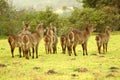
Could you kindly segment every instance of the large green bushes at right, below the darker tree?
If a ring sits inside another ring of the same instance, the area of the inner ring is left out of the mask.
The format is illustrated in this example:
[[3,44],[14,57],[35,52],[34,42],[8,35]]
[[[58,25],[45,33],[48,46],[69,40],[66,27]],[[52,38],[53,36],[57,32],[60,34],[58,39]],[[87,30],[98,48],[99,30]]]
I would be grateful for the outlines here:
[[88,21],[91,21],[96,27],[96,31],[104,31],[105,26],[118,30],[120,15],[112,14],[113,12],[110,7],[104,7],[102,10],[96,10],[95,8],[76,9],[70,16],[69,21],[76,28],[84,28]]

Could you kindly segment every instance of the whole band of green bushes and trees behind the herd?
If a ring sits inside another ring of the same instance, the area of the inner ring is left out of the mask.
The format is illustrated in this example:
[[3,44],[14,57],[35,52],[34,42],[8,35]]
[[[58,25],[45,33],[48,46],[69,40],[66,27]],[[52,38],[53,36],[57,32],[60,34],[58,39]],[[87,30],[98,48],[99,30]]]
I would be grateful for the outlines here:
[[60,17],[53,12],[51,7],[46,7],[44,11],[17,11],[6,0],[0,0],[0,35],[17,33],[23,28],[22,21],[31,22],[31,30],[34,30],[40,22],[47,27],[53,23],[57,26],[59,35],[65,33],[70,26],[84,28],[89,20],[94,24],[97,32],[103,31],[106,25],[111,26],[115,31],[120,30],[119,0],[77,1],[83,3],[83,8],[74,8],[70,16]]

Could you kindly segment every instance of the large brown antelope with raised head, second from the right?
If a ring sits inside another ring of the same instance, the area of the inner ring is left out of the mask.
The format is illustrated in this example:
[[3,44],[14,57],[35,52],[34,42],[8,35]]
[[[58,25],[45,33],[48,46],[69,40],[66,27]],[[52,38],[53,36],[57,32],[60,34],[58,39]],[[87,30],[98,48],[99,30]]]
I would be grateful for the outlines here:
[[93,26],[92,26],[91,23],[89,23],[87,25],[87,27],[85,28],[85,30],[83,30],[83,31],[71,30],[68,33],[67,48],[68,48],[69,56],[71,56],[72,49],[74,51],[74,55],[77,56],[76,46],[78,44],[82,45],[83,55],[85,55],[85,53],[86,53],[86,55],[88,55],[88,53],[87,53],[87,41],[88,41],[88,38],[90,37],[90,34],[91,34],[92,30],[93,30]]

